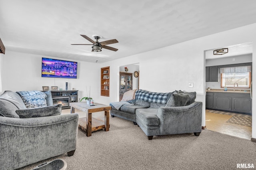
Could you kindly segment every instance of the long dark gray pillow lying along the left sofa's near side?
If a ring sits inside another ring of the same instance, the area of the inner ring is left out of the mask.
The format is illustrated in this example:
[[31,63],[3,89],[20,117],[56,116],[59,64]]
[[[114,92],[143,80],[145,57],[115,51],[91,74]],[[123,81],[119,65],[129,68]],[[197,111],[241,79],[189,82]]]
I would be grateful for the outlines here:
[[16,110],[16,113],[20,118],[31,118],[31,117],[45,117],[45,116],[55,116],[61,115],[62,105],[53,105],[47,107],[40,107],[34,109],[22,109]]

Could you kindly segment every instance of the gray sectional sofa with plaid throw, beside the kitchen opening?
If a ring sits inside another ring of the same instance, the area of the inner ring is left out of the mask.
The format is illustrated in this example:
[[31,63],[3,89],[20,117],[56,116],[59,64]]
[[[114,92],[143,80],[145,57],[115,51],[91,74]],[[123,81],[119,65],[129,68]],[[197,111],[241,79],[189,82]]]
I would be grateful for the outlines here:
[[[196,102],[196,92],[151,93],[138,90],[131,104],[116,108],[110,103],[111,117],[120,117],[138,125],[151,140],[165,134],[194,133],[202,129],[202,102]],[[121,101],[122,102],[122,101]]]

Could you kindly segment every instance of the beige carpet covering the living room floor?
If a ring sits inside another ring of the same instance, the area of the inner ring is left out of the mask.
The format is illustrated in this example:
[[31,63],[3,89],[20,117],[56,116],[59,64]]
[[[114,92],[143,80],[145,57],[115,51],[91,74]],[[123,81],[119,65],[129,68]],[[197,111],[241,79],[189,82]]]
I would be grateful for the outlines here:
[[[81,115],[82,116],[82,115]],[[78,130],[74,156],[62,154],[20,170],[62,158],[68,170],[236,170],[236,164],[256,166],[256,143],[210,130],[200,136],[175,134],[148,140],[132,122],[110,117],[110,131],[87,137]]]

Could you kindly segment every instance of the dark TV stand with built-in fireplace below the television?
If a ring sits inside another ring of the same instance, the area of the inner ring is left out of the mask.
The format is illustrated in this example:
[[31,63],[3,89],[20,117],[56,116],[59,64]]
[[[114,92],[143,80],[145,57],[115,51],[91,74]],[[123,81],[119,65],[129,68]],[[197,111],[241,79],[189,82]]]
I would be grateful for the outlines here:
[[53,104],[62,104],[62,109],[70,109],[69,103],[78,102],[78,90],[51,91]]

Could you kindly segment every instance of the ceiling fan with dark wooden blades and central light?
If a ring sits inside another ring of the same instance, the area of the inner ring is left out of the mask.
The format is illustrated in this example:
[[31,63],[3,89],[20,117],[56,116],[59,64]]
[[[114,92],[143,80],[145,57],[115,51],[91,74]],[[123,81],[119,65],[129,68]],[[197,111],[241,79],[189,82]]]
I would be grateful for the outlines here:
[[86,40],[88,40],[89,42],[91,42],[93,44],[71,44],[71,45],[93,45],[92,46],[92,52],[93,51],[99,52],[99,51],[101,51],[102,48],[109,49],[109,50],[112,50],[112,51],[117,51],[118,50],[116,48],[107,46],[108,44],[118,43],[118,41],[116,39],[107,40],[107,41],[104,41],[104,42],[98,42],[98,40],[100,38],[102,38],[102,36],[93,35],[93,37],[96,39],[96,42],[94,42],[92,39],[90,39],[89,37],[87,37],[85,35],[80,35],[80,36],[82,36],[83,38],[85,38]]

